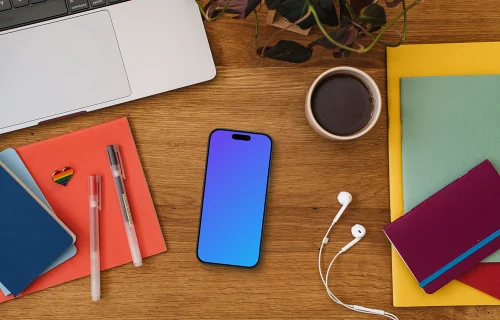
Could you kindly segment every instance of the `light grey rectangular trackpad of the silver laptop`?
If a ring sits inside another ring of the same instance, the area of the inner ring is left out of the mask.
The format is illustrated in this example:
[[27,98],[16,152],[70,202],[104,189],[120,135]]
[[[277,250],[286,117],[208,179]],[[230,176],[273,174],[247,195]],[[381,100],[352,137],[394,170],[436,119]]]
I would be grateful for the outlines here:
[[127,97],[108,11],[0,35],[0,128]]

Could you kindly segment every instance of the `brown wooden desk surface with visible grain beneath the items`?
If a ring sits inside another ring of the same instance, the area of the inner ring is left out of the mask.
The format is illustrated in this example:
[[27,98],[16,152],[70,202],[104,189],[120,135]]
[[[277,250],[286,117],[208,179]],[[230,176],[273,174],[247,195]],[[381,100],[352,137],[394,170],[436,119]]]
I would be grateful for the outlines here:
[[[426,1],[409,14],[407,43],[498,41],[495,5]],[[264,26],[264,13],[259,20],[262,42],[274,29]],[[351,240],[355,223],[368,233],[335,265],[332,290],[340,299],[400,319],[500,317],[495,307],[392,307],[390,246],[381,231],[389,223],[385,103],[375,128],[354,142],[325,140],[306,122],[306,92],[334,66],[366,71],[386,101],[383,48],[344,60],[315,50],[308,63],[292,65],[253,54],[252,19],[225,19],[208,24],[207,31],[215,80],[0,137],[0,149],[18,147],[127,116],[169,250],[140,269],[129,264],[103,272],[99,303],[91,302],[87,277],[2,303],[2,319],[375,318],[334,304],[319,279],[318,247],[342,190],[354,201],[334,229],[325,260]],[[471,59],[480,57],[478,52]],[[217,127],[266,132],[275,142],[262,260],[253,270],[202,265],[195,256],[207,136]]]

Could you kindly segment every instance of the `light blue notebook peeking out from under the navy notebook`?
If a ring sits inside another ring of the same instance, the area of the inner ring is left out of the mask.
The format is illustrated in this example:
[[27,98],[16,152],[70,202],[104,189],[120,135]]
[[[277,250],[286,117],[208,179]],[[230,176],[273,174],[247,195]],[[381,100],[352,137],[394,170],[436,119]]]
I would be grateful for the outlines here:
[[[7,166],[7,168],[9,168],[12,171],[12,173],[14,173],[14,175],[16,175],[19,178],[19,180],[21,180],[28,187],[28,189],[30,189],[52,211],[52,208],[50,207],[49,202],[43,195],[42,190],[40,190],[40,188],[36,184],[35,179],[33,179],[31,174],[29,173],[28,169],[26,168],[23,161],[17,154],[16,150],[5,149],[4,151],[0,152],[0,161],[2,161]],[[61,263],[74,257],[75,254],[76,254],[76,247],[75,245],[72,245],[68,248],[68,250],[64,251],[64,253],[44,271],[44,273],[54,269]],[[2,290],[5,296],[8,296],[10,294],[9,289],[7,289],[7,287],[5,287],[1,282],[0,282],[0,290]]]

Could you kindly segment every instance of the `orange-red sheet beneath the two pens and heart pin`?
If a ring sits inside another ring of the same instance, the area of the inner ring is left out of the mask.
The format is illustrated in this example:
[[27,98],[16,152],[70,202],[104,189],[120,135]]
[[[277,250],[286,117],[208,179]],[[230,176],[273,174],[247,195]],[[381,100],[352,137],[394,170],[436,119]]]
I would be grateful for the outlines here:
[[[120,146],[129,204],[143,257],[167,250],[158,217],[126,118],[16,149],[56,215],[76,235],[77,254],[35,280],[22,295],[90,274],[88,176],[102,176],[100,213],[101,270],[132,261],[124,222],[111,175],[106,146]],[[52,173],[71,167],[66,187],[52,181]],[[135,272],[140,273],[138,268]],[[89,287],[90,290],[90,287]],[[1,296],[0,302],[13,299]]]

